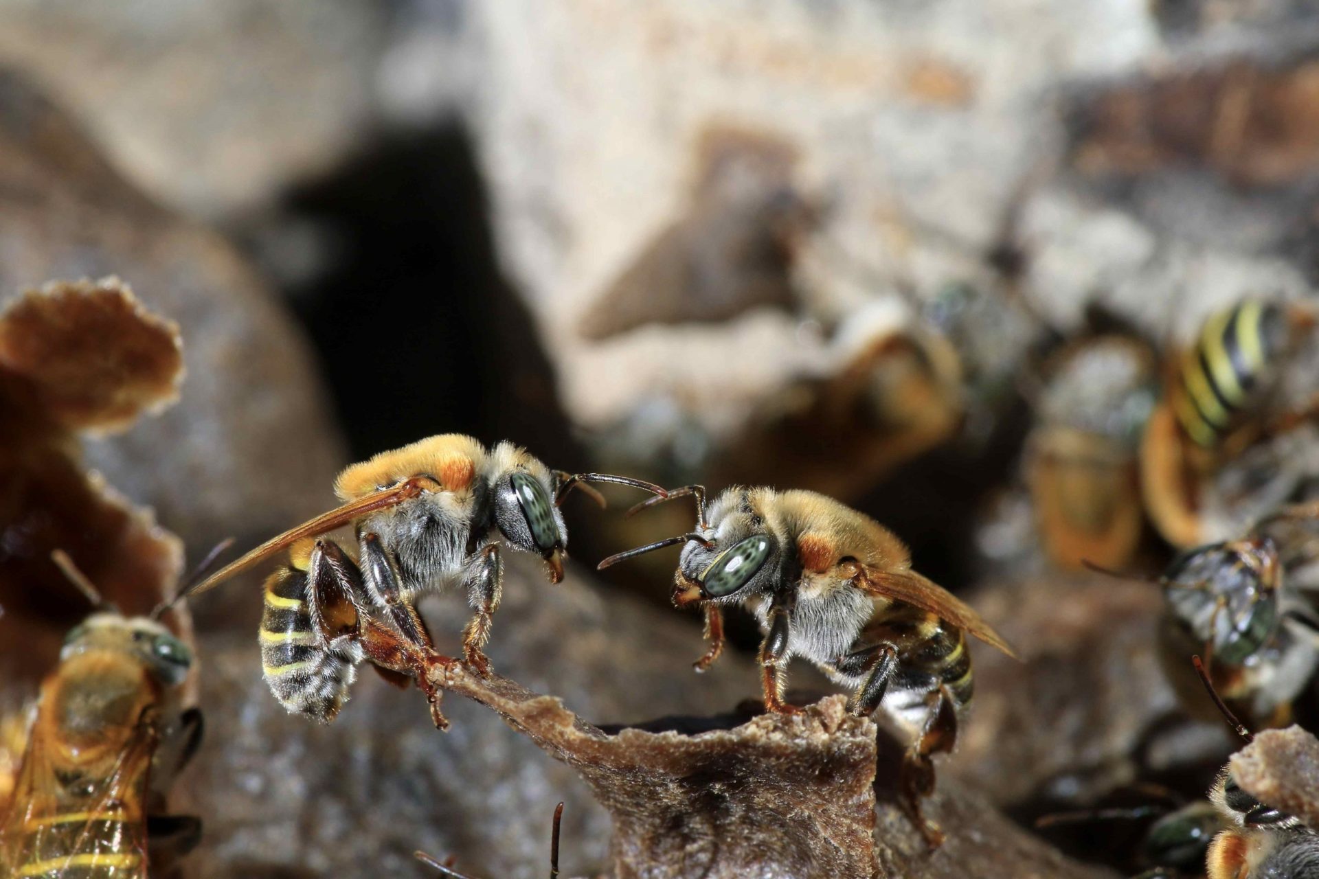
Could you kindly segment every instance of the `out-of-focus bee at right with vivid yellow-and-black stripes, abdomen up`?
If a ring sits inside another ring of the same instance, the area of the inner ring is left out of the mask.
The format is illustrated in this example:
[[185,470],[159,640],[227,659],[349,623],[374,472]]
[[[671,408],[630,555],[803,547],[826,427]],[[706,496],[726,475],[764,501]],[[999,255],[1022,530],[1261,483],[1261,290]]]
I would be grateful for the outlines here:
[[[1287,409],[1279,399],[1285,366],[1315,326],[1301,307],[1246,299],[1212,314],[1195,344],[1167,361],[1163,395],[1141,440],[1141,488],[1150,519],[1177,547],[1212,539],[1207,510],[1228,477],[1229,515],[1250,521],[1294,499],[1314,459],[1265,440],[1294,431],[1315,414],[1314,398]],[[1311,389],[1312,391],[1312,389]],[[1281,411],[1279,411],[1281,410]],[[1314,443],[1310,443],[1314,445]],[[1224,470],[1228,470],[1225,474]],[[1235,481],[1237,485],[1231,485]]]

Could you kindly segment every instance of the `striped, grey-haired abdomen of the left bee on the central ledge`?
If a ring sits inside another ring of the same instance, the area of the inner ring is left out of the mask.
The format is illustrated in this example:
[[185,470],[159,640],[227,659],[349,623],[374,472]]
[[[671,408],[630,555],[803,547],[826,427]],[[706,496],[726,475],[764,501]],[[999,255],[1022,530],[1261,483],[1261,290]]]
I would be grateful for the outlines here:
[[328,723],[348,701],[361,646],[350,638],[327,640],[317,631],[307,589],[307,575],[294,568],[281,568],[266,580],[261,671],[289,712]]

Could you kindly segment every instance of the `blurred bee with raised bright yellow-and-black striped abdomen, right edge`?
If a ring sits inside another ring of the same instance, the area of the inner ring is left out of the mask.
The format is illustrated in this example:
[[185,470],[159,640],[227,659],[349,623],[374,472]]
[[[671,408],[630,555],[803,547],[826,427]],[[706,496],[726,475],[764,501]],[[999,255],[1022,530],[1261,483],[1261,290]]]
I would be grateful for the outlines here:
[[[1167,364],[1163,398],[1146,424],[1140,457],[1146,510],[1169,543],[1191,547],[1204,539],[1212,474],[1258,440],[1312,415],[1312,402],[1277,416],[1269,410],[1281,365],[1314,324],[1298,307],[1246,299],[1211,315],[1195,344]],[[1272,469],[1286,470],[1278,467],[1285,463],[1273,461]]]

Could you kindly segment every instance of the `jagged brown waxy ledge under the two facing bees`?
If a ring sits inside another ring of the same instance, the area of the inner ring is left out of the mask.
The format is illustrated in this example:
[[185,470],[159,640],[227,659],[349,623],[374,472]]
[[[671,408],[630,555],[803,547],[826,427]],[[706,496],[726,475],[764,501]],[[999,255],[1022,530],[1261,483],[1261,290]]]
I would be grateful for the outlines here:
[[847,714],[842,696],[802,716],[765,714],[696,735],[609,735],[508,679],[480,679],[460,666],[437,666],[430,677],[582,774],[613,817],[620,879],[874,871],[876,731]]

